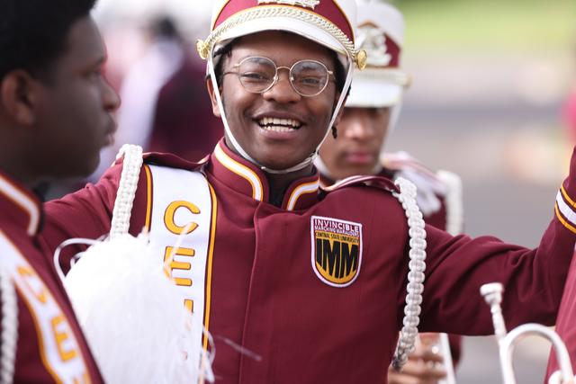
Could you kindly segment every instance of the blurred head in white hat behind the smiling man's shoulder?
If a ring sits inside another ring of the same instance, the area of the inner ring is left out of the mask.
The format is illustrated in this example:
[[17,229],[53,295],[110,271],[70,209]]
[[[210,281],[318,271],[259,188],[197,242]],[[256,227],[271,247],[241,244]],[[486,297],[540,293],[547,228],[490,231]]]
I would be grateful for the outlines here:
[[380,154],[401,110],[409,77],[400,69],[404,19],[390,4],[358,4],[356,44],[367,53],[366,68],[356,71],[338,138],[320,148],[317,166],[331,180],[380,171]]

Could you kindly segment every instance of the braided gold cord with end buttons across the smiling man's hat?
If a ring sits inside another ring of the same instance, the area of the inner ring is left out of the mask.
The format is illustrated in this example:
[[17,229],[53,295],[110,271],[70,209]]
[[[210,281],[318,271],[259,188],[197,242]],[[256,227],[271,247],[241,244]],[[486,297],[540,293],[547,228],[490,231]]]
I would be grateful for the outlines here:
[[218,28],[211,31],[210,36],[206,40],[197,40],[196,49],[202,59],[208,58],[212,46],[220,40],[220,36],[229,31],[230,29],[252,20],[266,19],[270,17],[291,17],[302,22],[316,25],[320,29],[329,32],[342,46],[347,50],[350,58],[356,63],[356,67],[364,69],[366,67],[366,52],[364,49],[358,51],[354,47],[354,43],[348,39],[346,33],[340,30],[336,25],[328,20],[320,17],[315,13],[310,13],[295,7],[287,6],[260,6],[255,9],[249,9],[245,12],[236,13],[231,16],[226,22],[220,24]]

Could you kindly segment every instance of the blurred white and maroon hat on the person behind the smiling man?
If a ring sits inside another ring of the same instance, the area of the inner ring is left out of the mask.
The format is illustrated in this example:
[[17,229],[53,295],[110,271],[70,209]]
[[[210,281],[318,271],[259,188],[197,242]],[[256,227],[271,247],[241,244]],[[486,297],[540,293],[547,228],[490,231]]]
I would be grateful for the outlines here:
[[347,107],[400,105],[410,77],[400,69],[404,17],[391,4],[358,0],[357,49],[367,54],[365,70],[356,72]]

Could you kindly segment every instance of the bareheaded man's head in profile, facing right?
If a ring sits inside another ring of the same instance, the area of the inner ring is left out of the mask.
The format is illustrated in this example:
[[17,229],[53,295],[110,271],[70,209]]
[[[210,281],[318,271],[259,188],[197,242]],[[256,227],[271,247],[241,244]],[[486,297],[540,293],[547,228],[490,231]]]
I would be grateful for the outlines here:
[[0,12],[0,167],[26,184],[90,174],[119,99],[103,79],[94,0],[6,0]]

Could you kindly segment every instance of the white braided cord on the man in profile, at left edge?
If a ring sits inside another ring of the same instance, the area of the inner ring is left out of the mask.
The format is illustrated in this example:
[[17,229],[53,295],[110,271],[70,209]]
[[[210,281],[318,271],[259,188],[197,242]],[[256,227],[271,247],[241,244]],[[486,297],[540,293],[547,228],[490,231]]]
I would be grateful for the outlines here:
[[10,273],[2,265],[0,265],[0,299],[2,299],[0,383],[12,384],[18,348],[18,299]]

